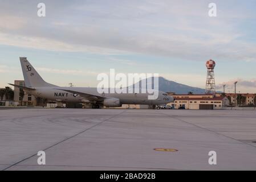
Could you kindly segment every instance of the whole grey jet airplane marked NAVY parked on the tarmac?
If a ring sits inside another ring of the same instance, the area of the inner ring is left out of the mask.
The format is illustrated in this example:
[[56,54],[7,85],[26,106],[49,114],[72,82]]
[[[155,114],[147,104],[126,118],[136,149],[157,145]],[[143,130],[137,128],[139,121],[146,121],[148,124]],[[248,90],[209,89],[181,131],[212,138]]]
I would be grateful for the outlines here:
[[164,105],[174,99],[159,91],[155,100],[149,100],[149,93],[99,93],[97,88],[62,87],[49,84],[36,72],[26,57],[20,57],[25,86],[14,85],[35,97],[46,98],[56,102],[76,102],[90,105],[92,109],[100,107],[120,107],[122,104]]

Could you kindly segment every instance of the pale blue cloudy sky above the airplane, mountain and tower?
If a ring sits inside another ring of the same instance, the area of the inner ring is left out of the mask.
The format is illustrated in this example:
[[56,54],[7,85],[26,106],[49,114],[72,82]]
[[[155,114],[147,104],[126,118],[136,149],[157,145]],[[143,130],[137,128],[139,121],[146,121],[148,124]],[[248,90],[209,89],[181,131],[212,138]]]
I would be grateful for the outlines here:
[[[38,3],[46,17],[38,17]],[[216,3],[217,17],[208,15]],[[222,90],[256,93],[256,1],[0,0],[0,87],[23,80],[25,56],[44,80],[96,86],[98,73],[159,73],[205,88],[216,60]]]

